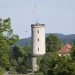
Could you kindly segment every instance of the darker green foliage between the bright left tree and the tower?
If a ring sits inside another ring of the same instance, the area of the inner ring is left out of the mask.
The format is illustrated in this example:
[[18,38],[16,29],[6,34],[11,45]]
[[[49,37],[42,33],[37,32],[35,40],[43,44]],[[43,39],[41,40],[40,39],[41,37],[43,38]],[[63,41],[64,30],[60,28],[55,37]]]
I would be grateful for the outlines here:
[[18,73],[25,73],[31,68],[30,47],[14,46],[11,51],[11,65]]

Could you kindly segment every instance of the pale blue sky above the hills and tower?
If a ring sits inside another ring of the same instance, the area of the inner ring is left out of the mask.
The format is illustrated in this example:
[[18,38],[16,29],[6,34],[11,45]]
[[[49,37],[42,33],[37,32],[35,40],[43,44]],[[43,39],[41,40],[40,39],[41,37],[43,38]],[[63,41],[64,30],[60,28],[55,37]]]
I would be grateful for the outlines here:
[[45,24],[46,33],[75,34],[75,0],[0,0],[0,18],[8,17],[21,39],[31,36],[36,21]]

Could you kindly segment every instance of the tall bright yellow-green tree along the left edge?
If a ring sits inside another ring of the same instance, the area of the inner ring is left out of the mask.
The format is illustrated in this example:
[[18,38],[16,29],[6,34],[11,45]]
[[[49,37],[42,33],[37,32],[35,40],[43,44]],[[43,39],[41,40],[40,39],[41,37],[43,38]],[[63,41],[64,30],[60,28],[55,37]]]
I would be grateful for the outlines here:
[[[13,41],[12,41],[13,39]],[[18,35],[13,34],[11,20],[0,19],[0,66],[7,69],[10,66],[11,45],[19,39]],[[10,42],[11,41],[11,42]]]

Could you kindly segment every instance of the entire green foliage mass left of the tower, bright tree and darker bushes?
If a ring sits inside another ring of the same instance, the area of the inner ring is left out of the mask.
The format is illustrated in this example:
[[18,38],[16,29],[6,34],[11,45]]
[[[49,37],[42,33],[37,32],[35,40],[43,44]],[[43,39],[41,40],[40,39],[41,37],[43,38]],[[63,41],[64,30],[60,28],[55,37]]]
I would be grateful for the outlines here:
[[0,66],[5,70],[24,73],[24,70],[31,68],[30,47],[13,46],[18,40],[19,36],[13,34],[10,18],[0,19]]

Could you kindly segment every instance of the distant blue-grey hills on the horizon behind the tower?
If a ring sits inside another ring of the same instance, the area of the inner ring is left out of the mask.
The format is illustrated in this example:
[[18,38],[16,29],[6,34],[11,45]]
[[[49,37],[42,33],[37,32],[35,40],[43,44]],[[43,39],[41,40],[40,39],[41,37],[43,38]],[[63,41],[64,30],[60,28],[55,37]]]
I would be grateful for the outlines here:
[[[46,37],[48,37],[51,33],[47,33]],[[75,40],[75,34],[70,34],[70,35],[64,35],[64,34],[59,34],[59,33],[52,33],[55,34],[63,43],[70,43]],[[20,39],[16,45],[20,46],[31,46],[31,37]]]

